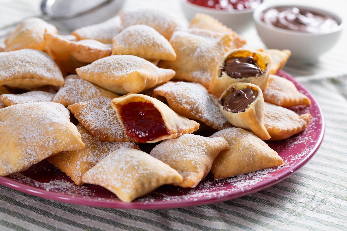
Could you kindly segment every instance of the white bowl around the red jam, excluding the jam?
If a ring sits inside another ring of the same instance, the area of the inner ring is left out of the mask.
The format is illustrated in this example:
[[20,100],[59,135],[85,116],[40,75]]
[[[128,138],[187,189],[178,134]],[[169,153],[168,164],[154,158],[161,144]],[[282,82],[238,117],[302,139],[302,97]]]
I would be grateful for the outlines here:
[[214,9],[209,7],[198,6],[187,0],[180,0],[181,8],[184,15],[190,22],[196,13],[203,13],[218,19],[222,24],[231,28],[235,32],[242,34],[248,28],[250,28],[253,23],[253,11],[254,9],[244,9],[244,10],[235,10],[230,12],[224,9]]

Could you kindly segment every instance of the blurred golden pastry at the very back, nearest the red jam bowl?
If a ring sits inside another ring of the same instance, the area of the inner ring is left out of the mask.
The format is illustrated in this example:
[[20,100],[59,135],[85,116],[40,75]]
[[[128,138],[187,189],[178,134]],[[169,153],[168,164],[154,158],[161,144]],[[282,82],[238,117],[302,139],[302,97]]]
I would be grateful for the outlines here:
[[245,39],[238,36],[238,34],[231,28],[223,25],[220,21],[210,15],[203,13],[196,13],[189,24],[189,28],[199,28],[205,30],[212,30],[217,33],[230,33],[232,34],[234,43],[237,47],[242,47],[246,44]]

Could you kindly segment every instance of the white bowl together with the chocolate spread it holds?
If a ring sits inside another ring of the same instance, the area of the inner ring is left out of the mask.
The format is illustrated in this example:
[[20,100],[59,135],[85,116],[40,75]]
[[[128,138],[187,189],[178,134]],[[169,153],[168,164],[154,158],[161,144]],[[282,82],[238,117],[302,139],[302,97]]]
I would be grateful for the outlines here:
[[301,5],[262,5],[253,18],[267,48],[291,51],[289,64],[314,64],[335,46],[344,28],[333,12]]

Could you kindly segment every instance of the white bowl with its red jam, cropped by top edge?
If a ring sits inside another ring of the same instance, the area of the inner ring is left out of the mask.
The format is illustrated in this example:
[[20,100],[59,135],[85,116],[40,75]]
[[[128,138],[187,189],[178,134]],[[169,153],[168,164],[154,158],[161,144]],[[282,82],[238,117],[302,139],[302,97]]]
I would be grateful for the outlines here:
[[263,0],[180,0],[184,15],[191,21],[196,13],[218,19],[237,33],[243,33],[253,23],[253,12]]

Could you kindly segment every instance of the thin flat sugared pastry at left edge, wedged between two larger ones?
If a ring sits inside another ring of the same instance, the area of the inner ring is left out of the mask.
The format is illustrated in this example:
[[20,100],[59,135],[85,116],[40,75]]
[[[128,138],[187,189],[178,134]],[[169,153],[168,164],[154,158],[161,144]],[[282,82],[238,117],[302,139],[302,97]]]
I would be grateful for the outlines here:
[[52,102],[54,93],[47,91],[28,91],[22,94],[2,94],[0,100],[6,106],[39,102]]

